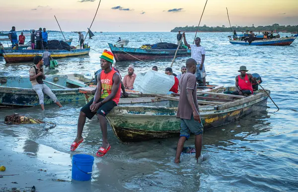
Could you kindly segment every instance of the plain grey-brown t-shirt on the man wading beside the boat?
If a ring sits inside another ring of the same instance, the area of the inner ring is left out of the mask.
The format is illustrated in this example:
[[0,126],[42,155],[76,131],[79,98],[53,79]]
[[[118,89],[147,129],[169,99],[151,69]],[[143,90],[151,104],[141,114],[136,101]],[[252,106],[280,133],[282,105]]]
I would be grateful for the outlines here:
[[178,104],[178,111],[177,111],[177,118],[190,120],[192,115],[192,109],[187,100],[187,95],[186,95],[187,89],[192,90],[194,103],[196,108],[198,109],[199,106],[198,106],[198,100],[197,100],[196,75],[190,72],[182,74],[179,79],[180,97],[179,97],[179,104]]

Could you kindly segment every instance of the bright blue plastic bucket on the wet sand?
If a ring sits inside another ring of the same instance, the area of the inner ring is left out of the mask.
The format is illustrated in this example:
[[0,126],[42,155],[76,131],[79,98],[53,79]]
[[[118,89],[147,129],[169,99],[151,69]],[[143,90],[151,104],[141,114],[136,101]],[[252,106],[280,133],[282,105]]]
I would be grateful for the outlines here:
[[93,161],[94,157],[91,155],[73,155],[72,179],[76,181],[91,180]]

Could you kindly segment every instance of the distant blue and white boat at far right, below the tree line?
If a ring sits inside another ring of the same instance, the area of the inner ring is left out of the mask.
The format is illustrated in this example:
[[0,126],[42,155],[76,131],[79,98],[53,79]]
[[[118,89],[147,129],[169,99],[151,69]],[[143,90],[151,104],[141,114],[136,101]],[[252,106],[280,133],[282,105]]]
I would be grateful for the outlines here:
[[292,37],[282,37],[282,38],[273,38],[273,39],[262,39],[256,38],[256,40],[249,39],[233,39],[233,36],[227,36],[231,44],[237,45],[270,45],[270,46],[286,46],[291,45],[293,41],[298,37],[298,34]]

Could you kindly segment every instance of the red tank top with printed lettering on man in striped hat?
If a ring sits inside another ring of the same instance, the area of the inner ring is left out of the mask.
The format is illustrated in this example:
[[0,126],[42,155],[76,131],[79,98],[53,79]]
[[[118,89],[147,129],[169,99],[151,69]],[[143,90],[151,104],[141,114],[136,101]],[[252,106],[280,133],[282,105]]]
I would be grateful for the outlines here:
[[[112,93],[112,86],[113,86],[113,76],[117,71],[112,69],[110,72],[105,73],[104,70],[100,73],[100,82],[101,82],[101,99],[106,98]],[[118,91],[115,95],[115,97],[112,99],[117,105],[119,103],[121,95],[121,82],[118,88]]]

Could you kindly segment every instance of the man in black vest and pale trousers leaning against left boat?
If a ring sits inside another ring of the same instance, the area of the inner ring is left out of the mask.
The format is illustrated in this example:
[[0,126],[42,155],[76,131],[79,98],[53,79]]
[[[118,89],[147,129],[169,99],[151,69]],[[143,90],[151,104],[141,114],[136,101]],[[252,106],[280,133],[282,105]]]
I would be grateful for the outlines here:
[[32,83],[32,89],[37,93],[39,98],[39,104],[42,110],[45,110],[44,107],[44,93],[48,95],[56,105],[62,107],[61,103],[58,101],[56,95],[52,92],[52,90],[44,84],[43,80],[46,79],[46,75],[44,73],[43,58],[41,56],[34,57],[34,65],[29,70],[30,81]]

